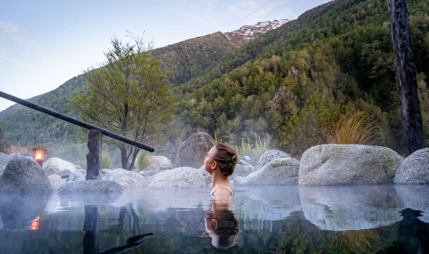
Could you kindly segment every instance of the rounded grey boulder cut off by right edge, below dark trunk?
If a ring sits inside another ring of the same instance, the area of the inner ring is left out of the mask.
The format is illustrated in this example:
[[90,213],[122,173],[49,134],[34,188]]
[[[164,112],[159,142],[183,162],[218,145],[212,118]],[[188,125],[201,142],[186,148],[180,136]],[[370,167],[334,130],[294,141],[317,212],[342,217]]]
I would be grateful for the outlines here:
[[429,148],[410,154],[396,170],[396,184],[429,184]]

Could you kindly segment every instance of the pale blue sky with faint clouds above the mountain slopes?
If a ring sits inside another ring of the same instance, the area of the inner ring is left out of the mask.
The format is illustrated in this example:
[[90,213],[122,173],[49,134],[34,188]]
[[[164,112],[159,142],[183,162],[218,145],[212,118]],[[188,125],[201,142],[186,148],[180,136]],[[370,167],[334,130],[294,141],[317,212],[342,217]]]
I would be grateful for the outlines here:
[[[186,39],[286,18],[329,0],[1,0],[0,91],[28,99],[88,67],[126,31],[161,48]],[[0,111],[13,102],[0,97]],[[43,105],[42,105],[43,106]]]

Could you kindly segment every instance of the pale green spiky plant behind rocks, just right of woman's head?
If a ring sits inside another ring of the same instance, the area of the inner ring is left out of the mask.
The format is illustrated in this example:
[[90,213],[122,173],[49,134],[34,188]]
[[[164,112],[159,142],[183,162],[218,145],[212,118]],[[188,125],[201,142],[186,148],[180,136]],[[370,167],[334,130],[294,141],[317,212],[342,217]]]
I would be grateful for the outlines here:
[[247,142],[245,142],[245,140],[242,139],[241,145],[236,146],[237,154],[241,157],[249,156],[251,158],[251,162],[255,164],[263,153],[271,150],[270,141],[271,138],[268,134],[266,134],[266,137],[261,140],[261,137],[257,136],[255,133],[254,140],[252,141],[251,139],[248,139]]

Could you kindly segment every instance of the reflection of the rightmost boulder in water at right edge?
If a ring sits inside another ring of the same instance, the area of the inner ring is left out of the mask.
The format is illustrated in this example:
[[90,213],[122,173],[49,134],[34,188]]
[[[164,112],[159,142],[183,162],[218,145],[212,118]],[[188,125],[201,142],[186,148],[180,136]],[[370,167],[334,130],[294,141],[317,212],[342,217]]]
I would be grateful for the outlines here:
[[405,208],[422,211],[420,221],[429,223],[429,186],[428,185],[395,185],[398,196]]

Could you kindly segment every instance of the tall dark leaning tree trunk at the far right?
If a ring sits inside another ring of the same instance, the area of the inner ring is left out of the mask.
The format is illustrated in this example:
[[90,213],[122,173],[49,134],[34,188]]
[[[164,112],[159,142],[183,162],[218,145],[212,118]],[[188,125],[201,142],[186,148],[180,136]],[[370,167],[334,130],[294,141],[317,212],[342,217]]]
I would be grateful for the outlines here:
[[408,156],[414,151],[425,148],[422,114],[417,91],[416,66],[413,62],[410,19],[406,0],[387,0],[387,3],[398,75],[405,155]]

